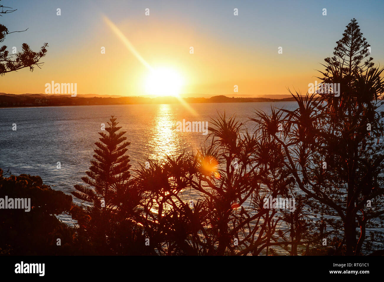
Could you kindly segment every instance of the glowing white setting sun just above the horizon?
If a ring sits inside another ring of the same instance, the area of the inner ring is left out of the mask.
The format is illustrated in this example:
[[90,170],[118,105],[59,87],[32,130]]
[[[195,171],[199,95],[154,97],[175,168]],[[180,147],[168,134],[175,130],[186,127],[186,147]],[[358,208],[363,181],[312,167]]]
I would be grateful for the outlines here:
[[183,83],[184,79],[174,69],[154,69],[145,81],[145,91],[152,96],[177,97]]

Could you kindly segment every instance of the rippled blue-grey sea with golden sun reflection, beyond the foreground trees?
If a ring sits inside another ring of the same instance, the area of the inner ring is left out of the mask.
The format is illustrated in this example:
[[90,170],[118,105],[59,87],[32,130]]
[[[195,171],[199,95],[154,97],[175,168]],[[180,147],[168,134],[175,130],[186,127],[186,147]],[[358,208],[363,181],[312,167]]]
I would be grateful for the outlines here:
[[[296,102],[149,104],[113,106],[65,106],[0,109],[0,168],[13,175],[41,176],[43,183],[67,194],[82,184],[93,159],[94,142],[102,124],[114,115],[131,142],[127,154],[132,168],[146,159],[161,160],[204,145],[203,132],[177,132],[178,121],[209,122],[225,112],[247,122],[255,110],[271,106],[295,109]],[[12,130],[16,124],[17,130]],[[56,168],[60,162],[61,168]],[[192,195],[195,199],[199,195]],[[60,216],[63,222],[71,218]]]

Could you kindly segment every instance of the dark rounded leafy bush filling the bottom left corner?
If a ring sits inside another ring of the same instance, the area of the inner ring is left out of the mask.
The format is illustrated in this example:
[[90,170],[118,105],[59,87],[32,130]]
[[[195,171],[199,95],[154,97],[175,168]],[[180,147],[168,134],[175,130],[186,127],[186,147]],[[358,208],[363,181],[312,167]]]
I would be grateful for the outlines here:
[[[8,176],[8,177],[7,177]],[[56,255],[79,253],[75,229],[55,215],[68,212],[72,197],[44,185],[40,176],[9,175],[0,169],[0,198],[30,198],[30,211],[0,209],[0,253]],[[7,203],[6,203],[7,204]],[[61,246],[57,245],[61,240]],[[83,245],[85,246],[85,245]]]

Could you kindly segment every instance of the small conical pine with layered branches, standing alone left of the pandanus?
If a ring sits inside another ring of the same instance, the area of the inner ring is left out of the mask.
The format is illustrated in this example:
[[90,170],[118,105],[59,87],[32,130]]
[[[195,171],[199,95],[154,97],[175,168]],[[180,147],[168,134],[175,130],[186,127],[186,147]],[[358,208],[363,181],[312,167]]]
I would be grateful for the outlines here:
[[131,165],[125,153],[130,142],[123,136],[126,132],[119,131],[121,127],[117,126],[113,116],[107,124],[108,134],[99,132],[101,138],[95,143],[98,148],[94,150],[95,160],[91,160],[91,167],[86,172],[88,176],[81,178],[88,186],[74,185],[77,191],[72,194],[88,204],[83,212],[74,211],[74,218],[80,225],[79,233],[88,236],[99,252],[121,254],[118,246],[124,246],[127,240],[124,238],[129,234],[133,237],[142,235],[141,228],[132,219],[138,212],[136,206],[140,194],[132,190],[129,181]]

